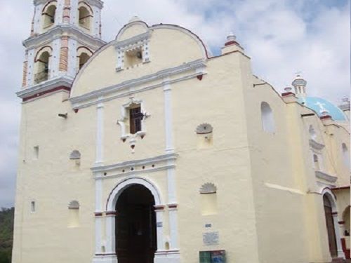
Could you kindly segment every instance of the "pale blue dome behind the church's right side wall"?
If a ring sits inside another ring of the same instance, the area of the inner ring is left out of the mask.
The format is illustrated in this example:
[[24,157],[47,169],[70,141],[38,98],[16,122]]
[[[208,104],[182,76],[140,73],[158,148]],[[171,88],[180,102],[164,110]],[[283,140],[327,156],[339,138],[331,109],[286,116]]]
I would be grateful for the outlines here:
[[329,102],[328,100],[322,99],[321,97],[300,97],[298,99],[298,102],[304,104],[310,109],[313,109],[314,112],[317,112],[318,116],[322,116],[322,112],[324,109],[326,109],[328,115],[330,115],[334,121],[347,120],[345,114],[339,107]]

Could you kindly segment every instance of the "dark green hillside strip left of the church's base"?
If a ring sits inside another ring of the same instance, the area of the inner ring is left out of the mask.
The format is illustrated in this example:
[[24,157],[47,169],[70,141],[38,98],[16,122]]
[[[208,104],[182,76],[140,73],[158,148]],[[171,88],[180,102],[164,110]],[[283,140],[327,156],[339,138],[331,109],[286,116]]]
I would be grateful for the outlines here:
[[15,208],[0,210],[0,263],[11,263]]

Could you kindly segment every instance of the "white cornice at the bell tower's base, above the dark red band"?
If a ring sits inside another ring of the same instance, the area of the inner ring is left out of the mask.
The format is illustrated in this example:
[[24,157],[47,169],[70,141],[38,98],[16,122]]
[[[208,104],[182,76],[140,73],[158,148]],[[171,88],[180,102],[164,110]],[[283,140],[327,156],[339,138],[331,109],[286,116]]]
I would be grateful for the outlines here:
[[58,86],[67,86],[71,87],[73,83],[73,78],[69,76],[60,76],[58,78],[49,79],[48,81],[41,82],[39,84],[29,86],[24,90],[20,90],[16,93],[18,97],[24,99],[25,97],[30,97],[37,93],[43,93],[47,90],[51,90],[52,88]]

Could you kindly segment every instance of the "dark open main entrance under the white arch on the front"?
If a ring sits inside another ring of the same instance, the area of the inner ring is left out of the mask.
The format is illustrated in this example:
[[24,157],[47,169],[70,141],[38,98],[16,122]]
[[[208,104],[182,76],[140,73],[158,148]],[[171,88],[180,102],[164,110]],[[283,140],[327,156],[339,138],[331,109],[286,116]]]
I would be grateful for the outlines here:
[[116,204],[116,252],[119,263],[153,263],[157,250],[155,200],[141,184],[126,187]]

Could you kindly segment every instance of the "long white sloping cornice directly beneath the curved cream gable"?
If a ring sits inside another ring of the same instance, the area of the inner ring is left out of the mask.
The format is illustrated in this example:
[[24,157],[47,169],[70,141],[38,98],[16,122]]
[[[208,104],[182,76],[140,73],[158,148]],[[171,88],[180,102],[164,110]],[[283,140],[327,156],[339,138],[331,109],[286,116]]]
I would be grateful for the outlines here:
[[[203,69],[206,67],[206,63],[204,60],[200,59],[200,60],[194,60],[192,62],[189,63],[185,63],[183,65],[180,65],[178,67],[172,67],[169,69],[163,69],[159,72],[156,72],[154,74],[149,74],[146,76],[142,76],[138,79],[131,79],[128,81],[124,81],[121,82],[117,85],[114,86],[109,86],[107,88],[102,88],[99,90],[94,90],[91,91],[90,93],[86,93],[84,95],[80,95],[77,97],[71,97],[69,100],[72,102],[73,108],[74,109],[78,109],[81,107],[86,107],[86,104],[90,105],[90,104],[95,104],[98,103],[100,101],[95,100],[94,102],[89,102],[93,99],[98,99],[99,97],[104,97],[110,93],[114,93],[116,91],[120,91],[120,90],[125,90],[126,88],[131,88],[131,87],[135,87],[144,83],[148,83],[151,81],[157,81],[159,79],[163,80],[169,76],[173,76],[176,74],[181,74],[183,72],[189,72],[191,70],[195,70],[197,72],[195,72],[194,74],[190,75],[190,76],[185,76],[183,78],[178,79],[178,81],[184,80],[184,79],[189,79],[192,77],[196,77],[199,74],[205,74],[203,72]],[[199,69],[199,71],[198,71]],[[172,81],[169,81],[170,83]],[[161,85],[154,85],[152,87],[149,88],[156,88],[158,86]],[[135,90],[135,92],[137,92],[138,90]],[[105,98],[104,100],[109,100],[109,98]],[[86,103],[86,104],[84,104]]]

